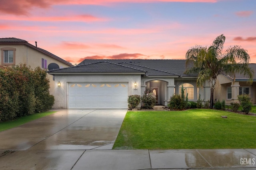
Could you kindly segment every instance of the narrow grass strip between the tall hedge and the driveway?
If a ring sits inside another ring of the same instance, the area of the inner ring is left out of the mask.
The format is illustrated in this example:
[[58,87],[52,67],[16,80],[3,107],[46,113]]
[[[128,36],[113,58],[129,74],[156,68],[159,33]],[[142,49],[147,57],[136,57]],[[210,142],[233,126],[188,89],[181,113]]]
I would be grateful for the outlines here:
[[52,113],[55,113],[55,111],[48,111],[48,112],[43,112],[43,113],[35,113],[33,115],[27,115],[25,117],[20,117],[16,120],[13,121],[8,121],[8,122],[0,122],[0,132],[10,129],[10,128],[14,128],[17,126],[20,126],[24,123],[28,123],[30,121],[33,121],[35,119],[39,119],[41,117],[45,117],[48,115],[51,115]]

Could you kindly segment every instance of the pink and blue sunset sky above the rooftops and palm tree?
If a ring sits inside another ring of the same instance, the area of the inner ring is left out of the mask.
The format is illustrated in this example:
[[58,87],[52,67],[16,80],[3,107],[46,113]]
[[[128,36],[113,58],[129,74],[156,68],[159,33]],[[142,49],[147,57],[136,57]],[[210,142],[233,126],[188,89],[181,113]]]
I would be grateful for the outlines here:
[[83,59],[185,59],[226,36],[256,63],[256,0],[0,0],[0,38]]

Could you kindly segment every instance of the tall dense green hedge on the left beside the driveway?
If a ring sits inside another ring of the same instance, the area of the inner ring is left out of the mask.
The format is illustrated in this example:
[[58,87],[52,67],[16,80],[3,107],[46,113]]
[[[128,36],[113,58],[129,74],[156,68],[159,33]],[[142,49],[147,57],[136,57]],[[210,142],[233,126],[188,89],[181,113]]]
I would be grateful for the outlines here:
[[25,64],[0,69],[0,122],[50,110],[54,97],[46,77],[46,70]]

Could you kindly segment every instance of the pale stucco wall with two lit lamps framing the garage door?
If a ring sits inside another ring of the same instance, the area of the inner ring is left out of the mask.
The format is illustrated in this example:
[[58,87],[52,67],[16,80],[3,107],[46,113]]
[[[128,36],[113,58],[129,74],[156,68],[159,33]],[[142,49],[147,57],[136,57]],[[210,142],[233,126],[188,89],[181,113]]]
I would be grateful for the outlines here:
[[[140,75],[55,75],[54,85],[54,109],[68,109],[68,83],[70,82],[127,82],[128,95],[141,94]],[[60,81],[61,86],[57,83]],[[137,83],[137,89],[134,89],[134,83]],[[128,96],[127,96],[128,98]],[[140,107],[140,105],[138,106]]]

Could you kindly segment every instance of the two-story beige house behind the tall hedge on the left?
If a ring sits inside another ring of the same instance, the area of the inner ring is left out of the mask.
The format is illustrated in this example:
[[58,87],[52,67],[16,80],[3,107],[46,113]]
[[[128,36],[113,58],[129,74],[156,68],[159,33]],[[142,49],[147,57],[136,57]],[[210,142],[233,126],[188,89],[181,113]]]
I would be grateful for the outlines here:
[[[20,63],[30,65],[33,69],[38,66],[47,69],[50,63],[56,63],[60,68],[72,66],[68,61],[18,38],[0,38],[0,50],[0,66],[2,67]],[[56,81],[51,75],[48,75],[48,78],[51,87],[50,94],[53,94]]]

